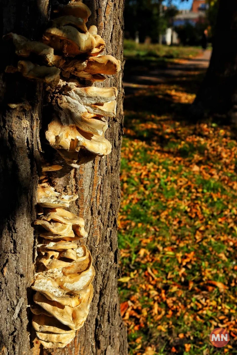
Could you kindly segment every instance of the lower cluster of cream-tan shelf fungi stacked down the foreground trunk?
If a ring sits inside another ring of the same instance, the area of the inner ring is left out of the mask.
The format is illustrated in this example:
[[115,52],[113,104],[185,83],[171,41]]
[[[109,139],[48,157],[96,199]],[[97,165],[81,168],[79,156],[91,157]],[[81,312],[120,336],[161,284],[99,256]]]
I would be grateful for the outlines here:
[[38,186],[36,234],[37,273],[31,288],[32,325],[44,348],[63,348],[75,337],[88,315],[95,270],[81,240],[84,220],[68,211],[77,195],[60,194],[44,182]]

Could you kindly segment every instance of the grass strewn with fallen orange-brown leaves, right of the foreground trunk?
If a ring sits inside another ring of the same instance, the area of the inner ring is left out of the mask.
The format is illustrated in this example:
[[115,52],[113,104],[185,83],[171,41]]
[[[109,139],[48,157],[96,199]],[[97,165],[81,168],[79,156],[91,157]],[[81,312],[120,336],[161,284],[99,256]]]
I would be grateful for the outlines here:
[[[183,118],[196,75],[136,89],[138,112],[125,99],[118,286],[130,354],[237,354],[237,142],[231,126]],[[230,333],[223,349],[209,342],[217,327]]]

